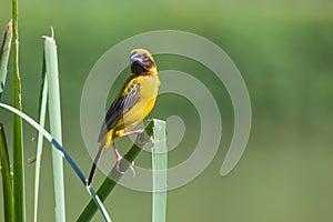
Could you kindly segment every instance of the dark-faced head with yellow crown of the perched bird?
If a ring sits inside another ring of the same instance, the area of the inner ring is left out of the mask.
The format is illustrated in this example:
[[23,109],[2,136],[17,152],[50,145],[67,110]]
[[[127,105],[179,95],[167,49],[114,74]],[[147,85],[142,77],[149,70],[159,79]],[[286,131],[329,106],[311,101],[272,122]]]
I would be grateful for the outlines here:
[[131,71],[135,75],[153,74],[158,72],[151,53],[145,49],[134,49],[130,56]]

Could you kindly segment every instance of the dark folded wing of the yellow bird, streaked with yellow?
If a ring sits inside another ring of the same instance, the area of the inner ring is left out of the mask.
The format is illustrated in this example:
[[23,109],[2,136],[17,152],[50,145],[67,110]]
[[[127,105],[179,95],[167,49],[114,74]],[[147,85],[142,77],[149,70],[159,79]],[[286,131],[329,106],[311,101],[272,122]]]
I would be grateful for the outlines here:
[[108,133],[108,131],[117,125],[122,120],[123,115],[129,112],[139,101],[139,91],[140,83],[138,83],[138,81],[132,77],[128,79],[127,83],[107,112],[102,129],[99,134],[99,142]]

